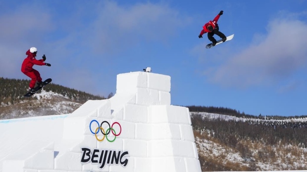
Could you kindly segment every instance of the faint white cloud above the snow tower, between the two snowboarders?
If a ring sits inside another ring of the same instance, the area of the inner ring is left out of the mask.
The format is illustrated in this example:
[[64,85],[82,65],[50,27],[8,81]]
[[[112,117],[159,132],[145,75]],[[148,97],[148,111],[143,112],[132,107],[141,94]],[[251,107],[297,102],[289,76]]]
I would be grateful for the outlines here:
[[125,51],[141,40],[166,42],[190,21],[166,4],[150,2],[127,7],[105,1],[97,15],[91,34],[85,33],[97,53]]

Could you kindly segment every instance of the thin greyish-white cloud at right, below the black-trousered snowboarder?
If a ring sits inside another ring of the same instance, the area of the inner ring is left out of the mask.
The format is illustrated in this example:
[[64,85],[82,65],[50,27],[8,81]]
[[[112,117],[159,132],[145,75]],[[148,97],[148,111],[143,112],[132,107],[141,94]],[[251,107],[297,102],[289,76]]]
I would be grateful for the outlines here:
[[267,35],[260,35],[261,42],[256,38],[257,44],[205,71],[205,75],[224,86],[274,85],[307,66],[306,31],[307,24],[300,20],[273,20]]

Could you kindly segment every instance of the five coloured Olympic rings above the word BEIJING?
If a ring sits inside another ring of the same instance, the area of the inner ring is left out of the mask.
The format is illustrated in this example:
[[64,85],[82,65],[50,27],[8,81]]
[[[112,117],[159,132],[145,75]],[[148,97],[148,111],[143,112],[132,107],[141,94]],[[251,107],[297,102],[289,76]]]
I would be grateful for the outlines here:
[[[98,127],[97,127],[96,130],[95,130],[95,132],[93,132],[93,131],[92,131],[92,128],[91,128],[93,122],[96,122],[97,125],[98,125]],[[102,124],[103,124],[103,123],[107,123],[107,125],[109,126],[109,128],[106,129],[106,131],[104,131],[104,129],[102,128]],[[113,129],[114,124],[117,124],[117,125],[119,126],[119,128],[120,128],[120,132],[119,132],[118,134],[116,134],[115,130]],[[115,140],[116,136],[119,136],[119,135],[120,135],[120,133],[121,133],[121,126],[120,126],[120,124],[119,124],[118,122],[114,122],[114,123],[110,126],[110,124],[109,124],[107,121],[103,121],[103,122],[99,125],[99,122],[98,122],[97,120],[94,119],[94,120],[92,120],[91,123],[90,123],[90,131],[91,131],[91,133],[93,133],[93,134],[95,135],[95,137],[96,137],[96,139],[97,139],[98,141],[103,141],[103,139],[106,138],[106,140],[108,140],[109,142],[113,142],[113,141]],[[102,133],[102,135],[103,135],[103,138],[102,138],[102,139],[99,139],[98,136],[97,136],[97,134],[99,133],[99,131],[101,131],[101,133]],[[113,134],[113,136],[115,136],[113,140],[110,140],[110,139],[107,138],[107,135],[108,135],[110,132]]]

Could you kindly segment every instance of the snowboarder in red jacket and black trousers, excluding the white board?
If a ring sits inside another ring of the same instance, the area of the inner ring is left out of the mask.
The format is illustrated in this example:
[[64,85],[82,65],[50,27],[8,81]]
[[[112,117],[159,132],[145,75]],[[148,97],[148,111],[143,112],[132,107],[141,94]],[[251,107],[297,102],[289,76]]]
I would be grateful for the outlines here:
[[225,34],[219,32],[219,28],[217,25],[217,21],[219,17],[223,15],[223,11],[220,11],[217,16],[213,19],[213,21],[209,21],[203,26],[203,30],[201,31],[201,34],[198,36],[199,38],[203,37],[203,34],[208,33],[208,39],[212,42],[212,45],[214,46],[216,44],[216,39],[213,37],[214,34],[218,35],[220,38],[222,38],[222,41],[226,41]]

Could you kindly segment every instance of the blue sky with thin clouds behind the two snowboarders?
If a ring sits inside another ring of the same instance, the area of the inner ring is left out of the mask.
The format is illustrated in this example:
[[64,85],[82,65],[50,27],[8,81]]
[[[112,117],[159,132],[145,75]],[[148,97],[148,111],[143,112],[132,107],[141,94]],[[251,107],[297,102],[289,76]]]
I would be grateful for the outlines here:
[[[235,36],[205,49],[198,35],[220,10]],[[307,0],[0,0],[0,28],[2,77],[27,79],[34,46],[51,64],[35,67],[43,79],[95,95],[151,67],[171,76],[174,105],[307,115]]]

